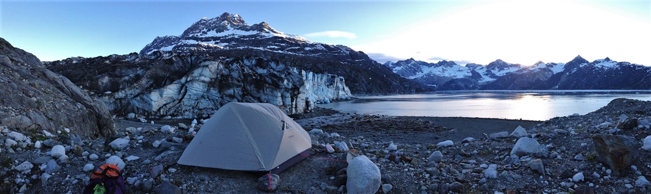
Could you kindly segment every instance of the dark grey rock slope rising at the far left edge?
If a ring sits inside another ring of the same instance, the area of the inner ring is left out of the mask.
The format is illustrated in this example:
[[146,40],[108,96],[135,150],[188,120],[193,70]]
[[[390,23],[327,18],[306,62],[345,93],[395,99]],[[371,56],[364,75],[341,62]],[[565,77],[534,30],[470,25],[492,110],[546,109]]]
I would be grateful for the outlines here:
[[70,128],[85,136],[108,136],[115,125],[106,106],[89,97],[36,58],[0,38],[0,125],[21,130]]

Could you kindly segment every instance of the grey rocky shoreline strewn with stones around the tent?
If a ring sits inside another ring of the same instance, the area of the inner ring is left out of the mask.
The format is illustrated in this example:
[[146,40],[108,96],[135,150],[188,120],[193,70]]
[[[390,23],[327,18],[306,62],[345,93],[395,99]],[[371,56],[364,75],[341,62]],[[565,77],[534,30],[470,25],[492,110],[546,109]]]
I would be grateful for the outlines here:
[[[648,112],[651,102],[630,99],[544,122],[316,109],[295,117],[316,140],[312,157],[281,173],[271,193],[338,193],[346,165],[335,160],[356,154],[380,169],[378,193],[648,193]],[[264,193],[258,175],[176,164],[201,127],[180,122],[118,118],[118,135],[106,139],[2,127],[0,193],[81,193],[105,162],[124,165],[130,193]]]

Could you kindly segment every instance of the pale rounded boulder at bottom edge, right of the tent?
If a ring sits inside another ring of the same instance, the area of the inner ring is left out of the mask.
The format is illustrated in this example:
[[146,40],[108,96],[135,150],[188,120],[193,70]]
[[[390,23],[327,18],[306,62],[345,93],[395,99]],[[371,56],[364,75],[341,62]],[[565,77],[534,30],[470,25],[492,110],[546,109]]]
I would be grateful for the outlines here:
[[380,169],[367,156],[357,156],[348,164],[348,193],[376,193],[380,188]]

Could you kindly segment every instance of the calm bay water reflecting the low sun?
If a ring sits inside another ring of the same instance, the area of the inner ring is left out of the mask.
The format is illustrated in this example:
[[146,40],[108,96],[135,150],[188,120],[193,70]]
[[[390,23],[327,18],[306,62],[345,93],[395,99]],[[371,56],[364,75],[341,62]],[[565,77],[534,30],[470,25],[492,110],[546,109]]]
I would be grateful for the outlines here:
[[594,112],[617,98],[651,101],[651,91],[445,91],[432,94],[358,96],[351,101],[318,106],[359,114],[544,121],[552,117]]

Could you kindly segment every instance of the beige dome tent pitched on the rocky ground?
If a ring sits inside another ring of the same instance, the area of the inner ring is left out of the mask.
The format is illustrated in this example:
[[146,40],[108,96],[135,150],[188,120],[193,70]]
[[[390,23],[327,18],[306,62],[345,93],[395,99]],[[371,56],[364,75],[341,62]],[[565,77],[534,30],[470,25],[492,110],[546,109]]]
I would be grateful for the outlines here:
[[281,173],[307,158],[310,135],[277,106],[228,103],[187,145],[178,164]]

